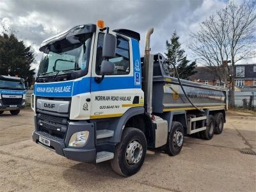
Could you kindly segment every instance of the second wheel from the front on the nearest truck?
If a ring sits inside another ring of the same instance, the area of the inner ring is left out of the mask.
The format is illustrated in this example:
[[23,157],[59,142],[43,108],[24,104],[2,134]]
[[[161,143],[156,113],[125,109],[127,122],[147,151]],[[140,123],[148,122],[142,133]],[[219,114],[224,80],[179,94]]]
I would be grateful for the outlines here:
[[184,142],[184,128],[180,122],[172,122],[171,132],[168,134],[166,143],[166,153],[176,156],[180,153]]

